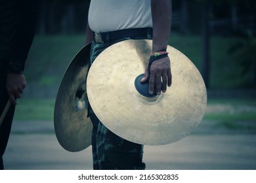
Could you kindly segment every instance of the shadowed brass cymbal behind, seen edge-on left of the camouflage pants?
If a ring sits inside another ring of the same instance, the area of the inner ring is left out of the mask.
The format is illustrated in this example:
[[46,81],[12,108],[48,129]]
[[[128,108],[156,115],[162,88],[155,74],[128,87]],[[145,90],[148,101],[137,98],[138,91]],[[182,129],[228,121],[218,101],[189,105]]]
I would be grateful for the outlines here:
[[86,76],[91,44],[84,46],[72,59],[60,83],[54,106],[54,130],[60,145],[70,152],[91,145],[93,125],[87,118]]

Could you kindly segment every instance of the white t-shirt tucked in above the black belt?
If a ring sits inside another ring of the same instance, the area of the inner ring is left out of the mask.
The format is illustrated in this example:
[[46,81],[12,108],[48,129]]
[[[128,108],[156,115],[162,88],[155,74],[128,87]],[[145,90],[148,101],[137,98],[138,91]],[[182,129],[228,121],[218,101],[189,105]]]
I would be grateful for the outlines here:
[[91,0],[88,22],[95,32],[152,27],[150,0]]

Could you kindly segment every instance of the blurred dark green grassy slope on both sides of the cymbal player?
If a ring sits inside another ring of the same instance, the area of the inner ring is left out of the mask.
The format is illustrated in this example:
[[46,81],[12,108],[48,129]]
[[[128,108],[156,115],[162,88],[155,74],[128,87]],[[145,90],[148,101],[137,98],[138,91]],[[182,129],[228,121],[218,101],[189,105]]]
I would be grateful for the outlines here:
[[[83,47],[84,40],[85,35],[36,35],[26,61],[28,82],[39,86],[58,86],[66,67]],[[240,75],[240,65],[228,54],[230,46],[238,41],[237,37],[211,37],[210,88],[236,88],[247,82],[248,75]],[[172,33],[169,44],[184,53],[202,71],[200,35]]]

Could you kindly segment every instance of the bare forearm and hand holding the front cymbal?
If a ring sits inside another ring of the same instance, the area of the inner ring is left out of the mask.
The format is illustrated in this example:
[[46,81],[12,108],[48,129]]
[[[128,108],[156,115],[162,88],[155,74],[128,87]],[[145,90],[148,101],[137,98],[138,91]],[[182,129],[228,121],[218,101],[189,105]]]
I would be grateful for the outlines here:
[[[171,0],[151,1],[153,22],[152,52],[166,51],[171,31]],[[149,79],[149,93],[156,88],[157,95],[166,92],[171,86],[171,63],[169,57],[156,59],[150,67],[150,75],[146,69],[141,82]],[[156,83],[156,86],[154,86]]]

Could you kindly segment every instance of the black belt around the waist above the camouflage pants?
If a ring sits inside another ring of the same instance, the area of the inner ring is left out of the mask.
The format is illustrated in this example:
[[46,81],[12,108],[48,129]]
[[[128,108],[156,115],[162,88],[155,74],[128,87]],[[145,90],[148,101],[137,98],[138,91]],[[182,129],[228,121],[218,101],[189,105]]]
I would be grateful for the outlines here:
[[110,42],[129,37],[131,39],[152,39],[153,30],[151,27],[123,29],[118,31],[110,31],[104,33],[94,33],[96,42]]

